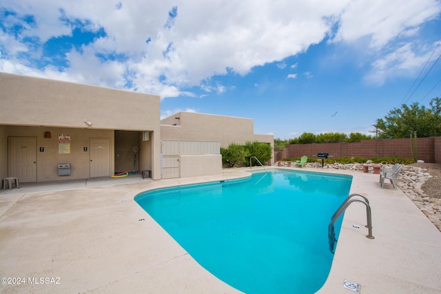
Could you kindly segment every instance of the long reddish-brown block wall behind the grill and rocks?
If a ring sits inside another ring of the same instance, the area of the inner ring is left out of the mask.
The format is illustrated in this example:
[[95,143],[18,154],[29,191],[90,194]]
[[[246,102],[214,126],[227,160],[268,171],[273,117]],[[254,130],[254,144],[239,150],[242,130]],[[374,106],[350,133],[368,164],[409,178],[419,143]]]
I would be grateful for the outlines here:
[[[441,163],[441,137],[417,138],[418,159],[424,162]],[[311,143],[291,144],[282,151],[274,152],[274,160],[283,160],[300,156],[314,156],[318,152],[327,152],[338,157],[387,157],[398,156],[412,158],[411,139],[372,139],[358,143]],[[415,151],[414,151],[415,152]]]

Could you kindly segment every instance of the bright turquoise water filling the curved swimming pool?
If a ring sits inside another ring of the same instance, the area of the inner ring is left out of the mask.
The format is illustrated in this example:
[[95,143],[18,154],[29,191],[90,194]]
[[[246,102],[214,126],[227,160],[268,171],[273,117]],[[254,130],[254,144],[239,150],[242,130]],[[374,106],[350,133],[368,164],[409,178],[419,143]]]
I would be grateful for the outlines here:
[[[136,202],[192,257],[245,293],[314,293],[333,255],[327,228],[352,178],[271,171],[147,191]],[[341,218],[336,224],[340,231]]]

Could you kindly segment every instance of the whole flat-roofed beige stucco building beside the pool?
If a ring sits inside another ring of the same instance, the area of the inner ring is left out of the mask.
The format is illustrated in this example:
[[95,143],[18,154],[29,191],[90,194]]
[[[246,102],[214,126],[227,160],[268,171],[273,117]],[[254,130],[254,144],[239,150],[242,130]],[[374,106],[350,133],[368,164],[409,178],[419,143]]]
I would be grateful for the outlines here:
[[252,119],[179,112],[161,120],[160,104],[151,94],[0,73],[0,178],[218,174],[220,147],[247,140],[274,147],[272,135],[254,134]]

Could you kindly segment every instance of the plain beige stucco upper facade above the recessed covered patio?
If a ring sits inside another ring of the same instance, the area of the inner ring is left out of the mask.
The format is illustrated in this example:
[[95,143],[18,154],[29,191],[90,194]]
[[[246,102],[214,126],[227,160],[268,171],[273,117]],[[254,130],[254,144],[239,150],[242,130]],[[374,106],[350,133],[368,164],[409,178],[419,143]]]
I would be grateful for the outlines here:
[[101,129],[159,129],[160,97],[0,73],[0,123]]

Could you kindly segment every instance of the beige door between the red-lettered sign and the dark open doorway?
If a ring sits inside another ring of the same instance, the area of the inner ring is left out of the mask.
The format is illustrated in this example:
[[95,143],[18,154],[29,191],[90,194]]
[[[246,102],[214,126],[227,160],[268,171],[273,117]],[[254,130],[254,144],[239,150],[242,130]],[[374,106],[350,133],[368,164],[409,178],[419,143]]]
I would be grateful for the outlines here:
[[89,139],[90,178],[110,176],[110,138]]

